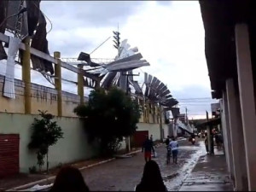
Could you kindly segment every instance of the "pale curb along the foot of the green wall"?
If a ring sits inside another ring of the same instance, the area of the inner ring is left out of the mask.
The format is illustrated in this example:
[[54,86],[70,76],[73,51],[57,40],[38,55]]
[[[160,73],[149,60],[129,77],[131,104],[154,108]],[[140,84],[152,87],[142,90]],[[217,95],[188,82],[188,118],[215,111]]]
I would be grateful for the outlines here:
[[[137,154],[140,151],[141,150],[133,151],[133,152],[131,152],[129,154]],[[82,170],[90,168],[92,166],[99,166],[101,164],[107,163],[107,162],[112,161],[112,160],[116,160],[116,158],[111,158],[109,160],[102,160],[100,162],[97,162],[95,164],[91,164],[89,166],[83,166],[83,167],[79,168],[79,170],[82,171]],[[47,178],[44,178],[44,179],[41,179],[41,180],[38,180],[38,181],[35,181],[35,182],[31,182],[31,183],[26,183],[24,185],[20,185],[18,187],[12,188],[12,189],[7,189],[5,191],[17,191],[17,190],[22,190],[22,189],[29,189],[32,186],[36,185],[36,184],[44,183],[44,182],[49,182],[50,180],[53,180],[53,179],[55,179],[55,176],[47,177]]]

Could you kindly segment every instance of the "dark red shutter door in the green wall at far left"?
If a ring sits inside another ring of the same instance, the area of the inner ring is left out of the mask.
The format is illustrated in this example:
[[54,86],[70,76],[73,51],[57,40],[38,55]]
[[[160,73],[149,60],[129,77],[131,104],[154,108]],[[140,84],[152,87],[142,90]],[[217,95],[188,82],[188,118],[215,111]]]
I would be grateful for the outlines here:
[[19,173],[19,134],[0,134],[0,177]]

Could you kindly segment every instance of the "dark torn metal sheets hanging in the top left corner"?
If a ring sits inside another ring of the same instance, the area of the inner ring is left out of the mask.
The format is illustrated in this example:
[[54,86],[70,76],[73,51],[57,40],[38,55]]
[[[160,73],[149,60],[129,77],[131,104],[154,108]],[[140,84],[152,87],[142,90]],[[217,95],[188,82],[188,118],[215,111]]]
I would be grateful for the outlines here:
[[[45,54],[49,54],[48,41],[46,39],[46,20],[44,14],[40,10],[40,0],[34,1],[0,1],[0,32],[4,33],[5,31],[16,33],[16,20],[17,16],[12,16],[20,11],[20,5],[26,8],[26,12],[22,14],[21,19],[21,30],[20,37],[21,40],[30,36],[32,38],[31,47],[38,49]],[[0,42],[0,60],[7,59],[5,50],[3,49],[3,44]],[[6,46],[8,46],[6,44]],[[37,69],[40,72],[49,72],[54,74],[54,67],[51,62],[45,61],[41,58],[38,58],[35,55],[31,56],[32,67]]]

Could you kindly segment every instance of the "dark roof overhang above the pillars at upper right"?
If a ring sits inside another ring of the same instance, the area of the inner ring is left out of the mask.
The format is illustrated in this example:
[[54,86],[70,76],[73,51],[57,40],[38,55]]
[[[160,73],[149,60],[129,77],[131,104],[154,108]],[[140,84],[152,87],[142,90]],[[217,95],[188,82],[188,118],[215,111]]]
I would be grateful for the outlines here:
[[[199,1],[205,28],[205,53],[212,87],[212,98],[221,98],[225,80],[237,77],[236,23],[247,23],[252,61],[256,55],[256,4],[249,0]],[[254,50],[253,50],[254,49]],[[255,65],[253,65],[255,66]]]

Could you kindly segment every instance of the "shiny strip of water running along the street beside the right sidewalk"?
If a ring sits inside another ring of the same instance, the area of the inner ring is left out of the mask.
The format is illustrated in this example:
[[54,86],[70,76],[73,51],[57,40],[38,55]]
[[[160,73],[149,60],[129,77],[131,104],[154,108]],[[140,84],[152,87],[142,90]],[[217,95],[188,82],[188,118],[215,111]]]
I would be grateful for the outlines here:
[[182,150],[196,150],[194,154],[191,154],[188,160],[185,161],[185,164],[181,169],[179,169],[175,174],[171,176],[167,176],[164,178],[164,183],[166,184],[166,188],[168,191],[177,191],[182,183],[183,180],[189,176],[189,173],[192,172],[193,168],[197,160],[199,160],[202,152],[205,148],[204,143],[200,142],[200,146],[181,146],[179,147]]

